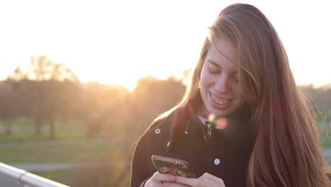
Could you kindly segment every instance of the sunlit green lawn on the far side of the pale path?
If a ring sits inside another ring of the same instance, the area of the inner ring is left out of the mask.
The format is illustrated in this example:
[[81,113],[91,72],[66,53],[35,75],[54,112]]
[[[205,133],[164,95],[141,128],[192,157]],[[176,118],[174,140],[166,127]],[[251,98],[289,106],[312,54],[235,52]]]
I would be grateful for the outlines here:
[[[0,123],[4,129],[5,122]],[[57,140],[50,140],[48,125],[42,127],[42,135],[35,136],[30,120],[11,122],[12,135],[0,135],[0,162],[63,163],[93,162],[111,157],[119,147],[109,138],[86,139],[84,128],[71,123],[56,124]]]

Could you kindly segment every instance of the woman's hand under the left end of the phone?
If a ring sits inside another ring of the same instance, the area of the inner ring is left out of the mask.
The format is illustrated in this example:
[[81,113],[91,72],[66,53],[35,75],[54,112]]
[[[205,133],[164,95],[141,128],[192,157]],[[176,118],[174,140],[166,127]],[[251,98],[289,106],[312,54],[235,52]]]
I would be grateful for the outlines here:
[[188,187],[185,184],[182,183],[176,183],[175,177],[171,174],[160,174],[158,171],[156,171],[151,178],[146,181],[144,187],[161,187],[161,186],[171,186],[171,187]]

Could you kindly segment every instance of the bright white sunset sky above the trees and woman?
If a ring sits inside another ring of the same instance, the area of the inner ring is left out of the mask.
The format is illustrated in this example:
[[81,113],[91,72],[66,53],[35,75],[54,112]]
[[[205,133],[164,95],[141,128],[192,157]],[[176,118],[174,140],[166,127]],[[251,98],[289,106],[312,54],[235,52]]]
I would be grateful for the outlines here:
[[37,55],[66,64],[83,82],[132,89],[146,76],[180,78],[197,64],[207,28],[237,2],[272,22],[297,84],[331,82],[331,16],[320,0],[1,0],[0,79]]

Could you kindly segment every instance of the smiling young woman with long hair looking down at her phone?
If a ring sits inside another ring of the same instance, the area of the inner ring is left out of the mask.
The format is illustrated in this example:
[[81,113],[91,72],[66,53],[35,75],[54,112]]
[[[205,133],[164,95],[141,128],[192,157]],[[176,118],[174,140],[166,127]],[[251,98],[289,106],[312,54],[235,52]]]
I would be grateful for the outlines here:
[[[186,160],[197,179],[158,173],[153,154]],[[182,101],[141,136],[131,186],[320,187],[327,172],[276,30],[254,6],[233,4],[211,26]]]

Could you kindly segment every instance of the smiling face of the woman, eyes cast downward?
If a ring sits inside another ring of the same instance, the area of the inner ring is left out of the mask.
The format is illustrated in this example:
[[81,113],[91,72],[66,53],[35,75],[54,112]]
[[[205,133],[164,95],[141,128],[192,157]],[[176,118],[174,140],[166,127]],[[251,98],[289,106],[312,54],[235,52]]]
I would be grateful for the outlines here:
[[200,74],[204,103],[199,109],[200,115],[226,117],[243,106],[237,62],[237,50],[229,40],[216,40],[209,46]]

